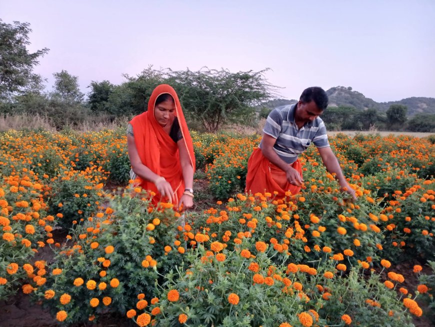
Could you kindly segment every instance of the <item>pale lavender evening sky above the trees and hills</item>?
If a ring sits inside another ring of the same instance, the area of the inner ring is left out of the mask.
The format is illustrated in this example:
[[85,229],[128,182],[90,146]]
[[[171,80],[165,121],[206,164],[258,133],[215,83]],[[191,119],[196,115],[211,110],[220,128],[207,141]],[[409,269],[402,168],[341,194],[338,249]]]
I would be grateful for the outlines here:
[[279,97],[352,87],[376,102],[435,97],[435,1],[0,0],[3,23],[28,22],[35,73],[125,81],[154,68],[270,70]]

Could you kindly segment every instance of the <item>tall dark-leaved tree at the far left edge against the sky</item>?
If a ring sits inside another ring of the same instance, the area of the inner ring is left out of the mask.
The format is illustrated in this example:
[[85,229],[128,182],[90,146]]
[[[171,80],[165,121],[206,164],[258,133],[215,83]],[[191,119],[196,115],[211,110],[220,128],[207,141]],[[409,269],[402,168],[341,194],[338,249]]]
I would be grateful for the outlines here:
[[28,52],[29,26],[20,22],[5,24],[0,19],[0,100],[10,99],[25,91],[39,92],[42,89],[41,77],[32,73],[32,70],[39,64],[39,57],[49,50],[43,48],[34,53]]

